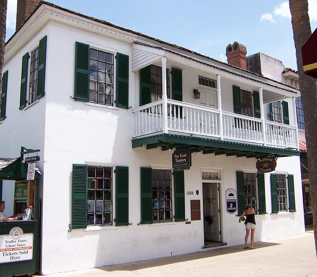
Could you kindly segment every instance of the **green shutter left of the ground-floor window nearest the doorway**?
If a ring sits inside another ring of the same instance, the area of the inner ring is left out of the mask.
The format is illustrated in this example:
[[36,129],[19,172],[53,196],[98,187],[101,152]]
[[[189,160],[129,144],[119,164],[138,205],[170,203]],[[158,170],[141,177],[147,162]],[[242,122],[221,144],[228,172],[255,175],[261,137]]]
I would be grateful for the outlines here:
[[141,223],[153,223],[152,168],[141,167]]

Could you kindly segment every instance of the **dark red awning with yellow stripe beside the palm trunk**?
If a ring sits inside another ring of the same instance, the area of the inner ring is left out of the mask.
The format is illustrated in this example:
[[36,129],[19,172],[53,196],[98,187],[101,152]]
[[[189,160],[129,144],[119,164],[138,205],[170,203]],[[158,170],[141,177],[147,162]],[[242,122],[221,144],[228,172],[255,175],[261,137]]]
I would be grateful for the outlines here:
[[317,79],[317,28],[301,47],[304,73]]

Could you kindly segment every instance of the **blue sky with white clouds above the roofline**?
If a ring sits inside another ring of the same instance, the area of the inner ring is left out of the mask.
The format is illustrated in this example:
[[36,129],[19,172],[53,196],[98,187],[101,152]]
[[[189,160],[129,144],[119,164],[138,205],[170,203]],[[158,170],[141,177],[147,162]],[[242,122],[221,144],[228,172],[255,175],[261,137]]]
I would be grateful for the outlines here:
[[[15,32],[17,0],[8,0],[8,40]],[[50,0],[165,42],[227,62],[235,41],[297,70],[293,30],[285,0]],[[317,28],[317,0],[308,0],[311,29]]]

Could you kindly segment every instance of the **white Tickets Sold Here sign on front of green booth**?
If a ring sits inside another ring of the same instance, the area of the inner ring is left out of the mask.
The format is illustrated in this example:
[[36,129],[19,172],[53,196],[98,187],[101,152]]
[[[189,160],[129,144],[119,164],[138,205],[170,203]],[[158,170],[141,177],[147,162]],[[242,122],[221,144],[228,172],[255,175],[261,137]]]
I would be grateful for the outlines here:
[[33,258],[33,234],[23,234],[20,227],[8,235],[0,235],[0,263],[26,261]]

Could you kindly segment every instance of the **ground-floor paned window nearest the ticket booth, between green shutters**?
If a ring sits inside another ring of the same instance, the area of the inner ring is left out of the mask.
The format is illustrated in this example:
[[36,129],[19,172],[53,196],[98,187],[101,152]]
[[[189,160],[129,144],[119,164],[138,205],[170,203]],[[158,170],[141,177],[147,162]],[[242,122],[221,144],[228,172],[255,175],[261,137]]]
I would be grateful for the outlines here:
[[87,225],[112,224],[112,168],[87,168]]

